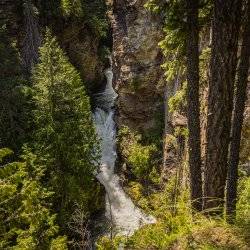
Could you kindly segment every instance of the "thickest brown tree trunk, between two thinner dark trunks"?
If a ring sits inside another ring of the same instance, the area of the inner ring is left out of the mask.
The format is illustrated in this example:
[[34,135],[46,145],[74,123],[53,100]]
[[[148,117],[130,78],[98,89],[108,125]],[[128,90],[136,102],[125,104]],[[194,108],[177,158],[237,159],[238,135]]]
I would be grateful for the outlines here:
[[211,214],[224,207],[241,7],[241,0],[214,0],[204,173],[204,209]]

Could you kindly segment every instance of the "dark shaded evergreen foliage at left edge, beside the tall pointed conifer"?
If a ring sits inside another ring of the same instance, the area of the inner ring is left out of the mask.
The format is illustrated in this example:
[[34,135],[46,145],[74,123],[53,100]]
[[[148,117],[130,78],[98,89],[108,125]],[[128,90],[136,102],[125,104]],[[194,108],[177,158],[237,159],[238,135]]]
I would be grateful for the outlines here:
[[0,147],[17,153],[28,137],[29,91],[20,71],[16,42],[0,26]]

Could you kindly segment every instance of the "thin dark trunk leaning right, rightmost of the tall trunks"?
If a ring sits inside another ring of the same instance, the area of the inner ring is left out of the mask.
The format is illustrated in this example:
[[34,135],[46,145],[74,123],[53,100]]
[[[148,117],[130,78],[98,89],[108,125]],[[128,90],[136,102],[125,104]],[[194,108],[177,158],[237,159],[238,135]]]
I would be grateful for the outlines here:
[[246,3],[246,16],[242,30],[242,47],[240,64],[236,82],[236,96],[232,120],[232,141],[229,151],[229,169],[227,182],[227,220],[233,222],[236,216],[236,198],[238,181],[238,164],[240,153],[241,129],[244,119],[244,109],[247,98],[247,82],[250,58],[250,0]]

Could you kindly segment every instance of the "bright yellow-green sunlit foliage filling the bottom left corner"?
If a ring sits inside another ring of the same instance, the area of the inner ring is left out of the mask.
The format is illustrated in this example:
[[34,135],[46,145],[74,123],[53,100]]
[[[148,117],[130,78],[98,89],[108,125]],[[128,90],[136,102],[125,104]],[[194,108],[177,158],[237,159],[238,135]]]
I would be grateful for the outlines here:
[[[2,152],[10,153],[6,149]],[[2,249],[10,246],[12,249],[49,249],[59,229],[56,215],[51,213],[53,192],[42,183],[45,167],[37,157],[25,149],[23,160],[0,168],[0,246]]]

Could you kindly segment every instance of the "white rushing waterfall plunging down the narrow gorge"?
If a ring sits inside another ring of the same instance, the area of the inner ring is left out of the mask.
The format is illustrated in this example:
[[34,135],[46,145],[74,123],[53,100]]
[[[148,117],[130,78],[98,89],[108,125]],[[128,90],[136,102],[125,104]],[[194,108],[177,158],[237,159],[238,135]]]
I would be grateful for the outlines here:
[[97,179],[106,190],[106,213],[120,235],[131,235],[144,224],[154,223],[152,216],[145,215],[137,208],[122,189],[119,177],[114,173],[116,154],[116,126],[114,121],[114,103],[117,97],[113,87],[112,68],[105,70],[107,85],[102,93],[96,95],[97,108],[94,122],[101,139],[101,166]]

